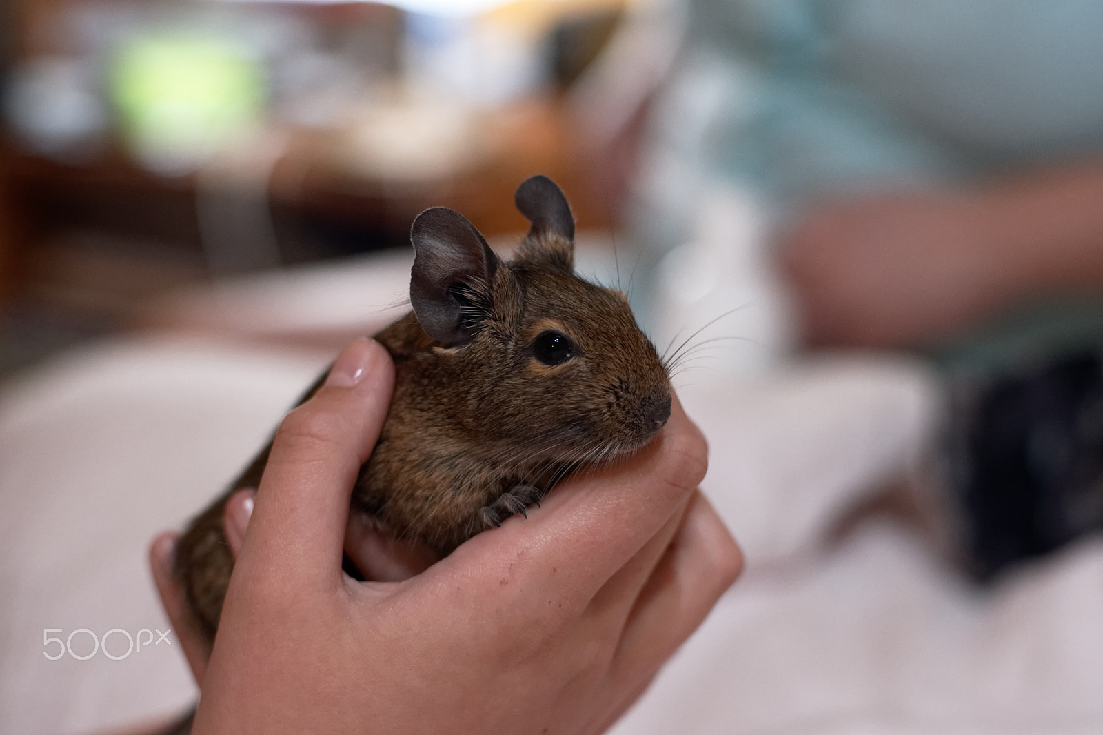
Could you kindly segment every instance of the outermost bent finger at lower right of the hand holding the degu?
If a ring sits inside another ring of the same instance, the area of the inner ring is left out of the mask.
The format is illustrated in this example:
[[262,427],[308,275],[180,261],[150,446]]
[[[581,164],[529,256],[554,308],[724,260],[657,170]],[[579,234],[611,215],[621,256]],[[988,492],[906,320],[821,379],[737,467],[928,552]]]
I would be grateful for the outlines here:
[[742,571],[742,554],[720,516],[694,494],[670,552],[636,599],[611,667],[635,681],[660,667],[704,621]]

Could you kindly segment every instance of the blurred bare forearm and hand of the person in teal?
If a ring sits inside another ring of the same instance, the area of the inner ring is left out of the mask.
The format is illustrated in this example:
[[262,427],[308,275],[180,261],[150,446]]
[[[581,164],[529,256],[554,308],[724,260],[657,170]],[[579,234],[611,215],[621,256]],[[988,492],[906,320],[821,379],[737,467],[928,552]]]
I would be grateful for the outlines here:
[[810,205],[781,267],[812,345],[922,347],[1103,286],[1103,163]]

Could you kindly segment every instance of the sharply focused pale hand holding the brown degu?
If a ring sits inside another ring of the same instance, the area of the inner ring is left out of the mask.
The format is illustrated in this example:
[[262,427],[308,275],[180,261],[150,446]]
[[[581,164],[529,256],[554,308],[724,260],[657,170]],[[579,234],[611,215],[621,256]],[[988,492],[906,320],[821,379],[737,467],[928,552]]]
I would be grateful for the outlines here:
[[[707,448],[675,400],[632,458],[550,493],[432,563],[349,520],[386,415],[386,351],[349,347],[280,426],[255,494],[227,508],[236,566],[214,648],[190,632],[195,733],[600,733],[640,696],[742,567],[697,491]],[[342,552],[370,578],[341,571]]]

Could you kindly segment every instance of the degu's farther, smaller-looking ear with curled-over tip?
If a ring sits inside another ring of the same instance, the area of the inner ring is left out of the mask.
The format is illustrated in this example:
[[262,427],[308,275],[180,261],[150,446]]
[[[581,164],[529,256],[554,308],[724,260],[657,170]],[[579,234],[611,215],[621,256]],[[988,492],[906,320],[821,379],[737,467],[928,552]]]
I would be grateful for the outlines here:
[[525,179],[513,195],[517,209],[533,223],[520,256],[575,269],[575,215],[563,190],[545,175]]

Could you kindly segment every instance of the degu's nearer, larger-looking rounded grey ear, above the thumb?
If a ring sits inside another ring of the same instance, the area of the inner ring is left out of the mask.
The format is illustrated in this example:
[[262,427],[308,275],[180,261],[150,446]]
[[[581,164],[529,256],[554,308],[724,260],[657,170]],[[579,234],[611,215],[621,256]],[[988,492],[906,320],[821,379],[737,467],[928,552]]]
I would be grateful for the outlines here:
[[417,215],[410,243],[410,303],[421,329],[448,347],[470,341],[492,307],[494,251],[467,217],[446,206]]

